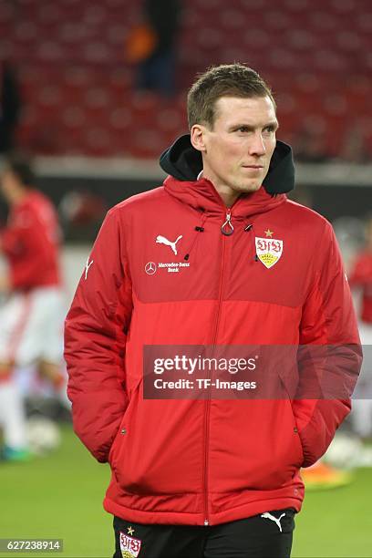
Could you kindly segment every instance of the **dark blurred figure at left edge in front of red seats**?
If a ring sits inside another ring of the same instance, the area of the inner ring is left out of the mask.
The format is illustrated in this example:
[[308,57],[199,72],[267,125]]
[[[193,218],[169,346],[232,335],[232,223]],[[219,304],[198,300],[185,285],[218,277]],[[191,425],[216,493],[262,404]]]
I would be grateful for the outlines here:
[[0,60],[0,154],[15,147],[15,129],[21,109],[15,69]]

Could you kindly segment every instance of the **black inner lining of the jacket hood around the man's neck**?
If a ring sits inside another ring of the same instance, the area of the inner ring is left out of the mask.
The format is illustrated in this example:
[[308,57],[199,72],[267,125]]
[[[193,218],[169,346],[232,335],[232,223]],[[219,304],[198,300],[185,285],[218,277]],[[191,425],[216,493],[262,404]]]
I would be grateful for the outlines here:
[[[178,138],[160,156],[160,167],[178,181],[196,181],[202,171],[202,153],[191,145],[190,134]],[[292,148],[276,141],[270,168],[263,182],[269,194],[294,190],[294,159]]]

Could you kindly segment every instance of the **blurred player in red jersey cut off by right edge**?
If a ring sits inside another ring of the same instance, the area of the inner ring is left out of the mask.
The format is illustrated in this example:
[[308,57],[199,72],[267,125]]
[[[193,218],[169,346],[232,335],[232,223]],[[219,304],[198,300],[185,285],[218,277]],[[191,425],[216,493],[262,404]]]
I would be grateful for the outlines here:
[[364,347],[364,362],[360,382],[356,386],[353,424],[363,439],[372,437],[372,215],[366,221],[366,243],[356,255],[349,283],[361,291],[359,333]]

